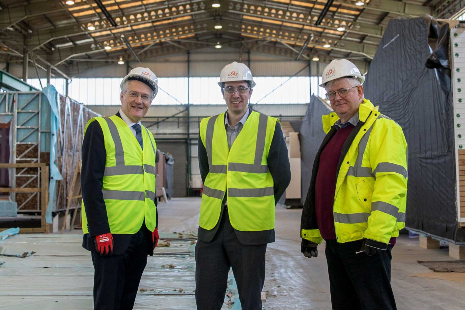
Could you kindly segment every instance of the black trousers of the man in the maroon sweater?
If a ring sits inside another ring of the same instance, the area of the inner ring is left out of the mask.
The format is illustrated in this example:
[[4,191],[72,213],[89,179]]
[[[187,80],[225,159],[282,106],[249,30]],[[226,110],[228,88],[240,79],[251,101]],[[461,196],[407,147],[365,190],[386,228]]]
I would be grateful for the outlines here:
[[362,240],[337,243],[326,240],[329,285],[333,310],[395,310],[391,288],[391,250],[368,256]]

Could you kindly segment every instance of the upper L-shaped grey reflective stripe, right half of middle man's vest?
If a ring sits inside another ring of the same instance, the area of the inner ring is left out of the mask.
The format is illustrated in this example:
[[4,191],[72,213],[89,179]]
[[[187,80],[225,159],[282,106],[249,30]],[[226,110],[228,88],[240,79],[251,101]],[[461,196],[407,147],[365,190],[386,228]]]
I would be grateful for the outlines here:
[[268,126],[268,117],[265,114],[259,115],[259,128],[257,131],[257,143],[255,144],[255,157],[253,164],[229,163],[229,171],[251,172],[251,173],[267,173],[268,165],[262,165],[261,160],[263,152],[265,152],[266,142],[266,127]]

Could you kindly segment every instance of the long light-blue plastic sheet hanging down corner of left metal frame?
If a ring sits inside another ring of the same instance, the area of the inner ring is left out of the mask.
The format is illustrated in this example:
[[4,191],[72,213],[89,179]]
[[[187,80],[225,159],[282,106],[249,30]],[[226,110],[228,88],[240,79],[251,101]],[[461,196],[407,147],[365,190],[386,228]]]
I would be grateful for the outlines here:
[[57,150],[57,131],[59,125],[59,114],[58,114],[58,92],[53,85],[48,84],[42,92],[46,95],[48,103],[52,109],[50,113],[50,182],[48,184],[48,206],[45,212],[45,220],[47,223],[52,223],[52,211],[56,206],[56,182],[62,180],[60,171],[58,170],[56,162],[56,150]]

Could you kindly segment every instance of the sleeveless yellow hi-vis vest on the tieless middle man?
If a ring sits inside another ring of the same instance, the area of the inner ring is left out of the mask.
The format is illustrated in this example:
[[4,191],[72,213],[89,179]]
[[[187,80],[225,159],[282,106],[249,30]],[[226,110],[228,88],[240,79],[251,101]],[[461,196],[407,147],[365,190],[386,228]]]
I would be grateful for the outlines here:
[[206,230],[215,227],[227,190],[228,214],[234,229],[274,229],[273,178],[267,158],[278,119],[252,111],[231,150],[224,119],[225,113],[221,113],[200,122],[210,172],[203,187],[199,226]]

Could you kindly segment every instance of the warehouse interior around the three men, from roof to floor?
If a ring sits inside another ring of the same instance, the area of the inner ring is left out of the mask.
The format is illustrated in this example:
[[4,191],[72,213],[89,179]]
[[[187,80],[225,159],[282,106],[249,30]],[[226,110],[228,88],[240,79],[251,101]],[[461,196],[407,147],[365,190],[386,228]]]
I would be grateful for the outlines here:
[[[120,110],[121,80],[136,67],[158,78],[142,125],[159,155],[162,245],[134,309],[195,309],[199,126],[226,111],[217,82],[233,61],[257,84],[249,107],[279,119],[291,164],[263,309],[332,309],[325,242],[304,257],[299,224],[332,112],[319,84],[334,59],[359,68],[365,98],[409,145],[405,229],[392,250],[398,309],[465,308],[464,1],[0,0],[0,16],[2,309],[93,309],[84,129]],[[242,309],[232,272],[221,309]]]

